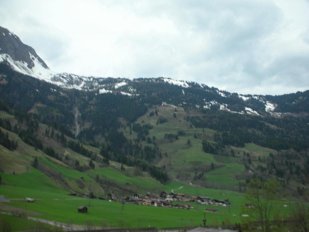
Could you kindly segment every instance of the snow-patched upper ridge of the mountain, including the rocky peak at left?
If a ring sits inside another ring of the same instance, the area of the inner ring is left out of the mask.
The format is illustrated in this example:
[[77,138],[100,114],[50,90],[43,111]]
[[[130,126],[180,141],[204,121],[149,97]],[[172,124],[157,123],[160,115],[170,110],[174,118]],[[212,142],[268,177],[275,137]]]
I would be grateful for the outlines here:
[[[173,80],[170,78],[102,78],[70,73],[56,73],[36,54],[23,44],[13,32],[0,27],[0,63],[14,71],[56,84],[62,88],[97,91],[97,94],[121,94],[128,97],[157,97],[158,101],[171,105],[191,105],[198,109],[225,110],[230,113],[254,116],[272,115],[281,117],[289,112],[290,105],[296,109],[306,96],[293,98],[293,102],[280,102],[276,96],[242,95],[222,91],[205,84]],[[158,88],[155,85],[159,86]],[[150,87],[151,86],[151,87]],[[169,93],[167,93],[168,91]],[[166,97],[166,99],[164,98]],[[299,105],[298,104],[298,105]],[[283,112],[278,111],[283,109]]]

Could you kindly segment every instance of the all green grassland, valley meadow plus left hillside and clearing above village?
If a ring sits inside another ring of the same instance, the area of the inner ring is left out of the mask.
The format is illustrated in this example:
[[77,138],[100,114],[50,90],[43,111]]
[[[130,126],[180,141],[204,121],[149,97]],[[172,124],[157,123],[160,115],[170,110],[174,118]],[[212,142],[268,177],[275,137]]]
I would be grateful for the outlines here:
[[[73,169],[72,165],[70,167],[68,162],[61,162],[48,157],[42,151],[35,150],[34,147],[25,144],[18,135],[8,132],[10,139],[18,142],[18,147],[16,150],[10,151],[0,145],[0,172],[2,172],[0,195],[4,195],[8,199],[19,200],[12,200],[10,203],[3,204],[20,209],[27,208],[27,210],[36,212],[36,215],[29,214],[29,216],[33,217],[79,225],[91,222],[92,225],[105,227],[151,226],[164,228],[199,226],[202,224],[203,212],[206,208],[218,208],[219,210],[219,213],[206,213],[208,225],[221,224],[225,218],[232,224],[239,222],[239,209],[243,205],[244,197],[242,193],[236,191],[239,182],[244,180],[237,180],[235,176],[244,170],[244,165],[238,163],[243,157],[243,152],[249,152],[252,157],[263,157],[268,156],[270,152],[274,153],[276,151],[255,144],[245,144],[244,148],[232,147],[236,152],[236,157],[205,153],[202,150],[202,139],[214,143],[213,135],[215,131],[192,127],[190,122],[184,120],[184,116],[188,115],[188,113],[181,107],[177,107],[177,112],[175,112],[175,107],[171,105],[159,106],[157,109],[159,115],[166,117],[168,122],[157,125],[158,116],[148,117],[149,111],[155,109],[149,110],[137,122],[153,125],[153,129],[149,131],[149,136],[150,138],[156,137],[156,143],[159,144],[162,152],[162,159],[155,162],[158,166],[165,165],[169,176],[173,180],[163,184],[156,181],[148,173],[140,172],[126,165],[124,165],[125,170],[121,171],[121,164],[114,161],[110,161],[109,166],[95,162],[95,169],[87,169],[90,160],[88,157],[62,147],[53,138],[45,138],[42,134],[44,134],[47,126],[40,124],[40,139],[44,140],[44,146],[47,144],[54,147],[62,158],[68,155],[71,162],[78,160],[81,165],[85,166],[85,171],[80,172]],[[174,113],[177,115],[176,118],[172,116]],[[190,112],[190,115],[195,115],[195,112]],[[0,117],[12,118],[10,114],[2,111]],[[4,129],[2,130],[7,132]],[[185,135],[179,136],[178,140],[170,142],[164,139],[166,133],[177,134],[177,131],[180,130],[184,130]],[[129,134],[128,127],[123,128],[123,131],[128,138],[133,139],[136,137],[134,131],[132,131],[132,135]],[[188,144],[188,140],[191,141],[190,144]],[[142,146],[144,145],[146,145],[146,142],[142,142]],[[148,145],[154,146],[153,144]],[[89,145],[84,145],[84,147],[99,156],[99,148]],[[38,169],[32,167],[35,157],[38,157]],[[253,163],[256,162],[255,159]],[[209,169],[211,163],[214,163],[216,167],[214,170]],[[204,173],[204,181],[218,183],[219,189],[188,184],[192,182],[195,171]],[[177,176],[181,180],[183,174],[187,175],[186,183],[175,180]],[[97,175],[99,177],[98,181],[96,181]],[[236,191],[220,189],[223,184],[227,187],[232,186],[233,188],[230,189],[236,189]],[[67,195],[72,191],[80,194],[93,191],[97,196],[107,196],[110,191],[114,190],[117,190],[118,193],[125,192],[127,195],[133,195],[133,192],[141,194],[147,192],[159,193],[164,190],[167,192],[187,193],[193,196],[209,196],[211,199],[223,200],[227,198],[230,200],[232,207],[214,207],[193,202],[190,204],[195,209],[183,210],[135,204],[123,205],[116,202],[89,200]],[[131,192],[131,194],[128,192]],[[37,201],[35,203],[20,201],[25,197],[34,198]],[[77,208],[82,205],[89,206],[89,213],[77,212]],[[282,202],[277,202],[278,208],[284,213],[287,212],[288,209],[282,208],[282,205]],[[0,208],[0,211],[2,210]],[[32,224],[32,222],[23,221],[25,219],[22,218],[10,216],[2,218],[12,222],[12,224],[15,222],[24,224],[25,227],[22,229],[38,226]],[[13,231],[20,229],[20,227],[15,226]]]

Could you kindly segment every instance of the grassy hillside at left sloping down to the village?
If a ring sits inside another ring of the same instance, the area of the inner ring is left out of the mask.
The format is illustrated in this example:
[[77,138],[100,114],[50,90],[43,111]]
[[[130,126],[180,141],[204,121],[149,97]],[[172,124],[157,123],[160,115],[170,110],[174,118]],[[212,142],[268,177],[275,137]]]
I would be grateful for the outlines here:
[[[17,123],[12,115],[4,111],[1,112],[0,117],[10,118],[13,125]],[[118,194],[123,194],[123,191],[126,194],[134,192],[146,193],[148,191],[159,191],[163,188],[163,185],[148,173],[135,171],[135,168],[128,166],[125,166],[125,171],[121,171],[121,164],[114,161],[110,161],[108,166],[93,160],[95,168],[88,167],[91,158],[74,152],[70,148],[63,147],[60,142],[51,138],[51,136],[46,136],[44,133],[49,127],[45,124],[39,123],[38,138],[43,141],[44,146],[52,147],[59,154],[62,161],[47,156],[40,149],[35,149],[24,143],[17,134],[2,127],[0,128],[4,133],[9,134],[9,139],[18,143],[14,151],[0,145],[0,157],[3,161],[0,162],[0,172],[3,173],[2,175],[7,180],[6,184],[8,185],[19,186],[16,182],[20,182],[21,187],[27,188],[26,183],[34,183],[37,177],[39,183],[41,183],[37,186],[39,187],[37,190],[42,190],[42,188],[44,190],[46,186],[53,186],[55,189],[79,194],[88,194],[92,191],[99,196],[107,195],[110,188]],[[58,131],[54,130],[54,133],[56,134]],[[79,142],[68,136],[65,137],[67,140]],[[98,159],[103,160],[103,157],[99,154],[99,148],[83,145],[87,150],[92,151]],[[37,169],[32,167],[35,157],[38,158],[39,163]],[[80,166],[86,167],[85,172],[75,170],[74,162],[76,161],[79,162]],[[99,183],[96,181],[97,175],[100,179]],[[106,183],[102,183],[102,180]]]

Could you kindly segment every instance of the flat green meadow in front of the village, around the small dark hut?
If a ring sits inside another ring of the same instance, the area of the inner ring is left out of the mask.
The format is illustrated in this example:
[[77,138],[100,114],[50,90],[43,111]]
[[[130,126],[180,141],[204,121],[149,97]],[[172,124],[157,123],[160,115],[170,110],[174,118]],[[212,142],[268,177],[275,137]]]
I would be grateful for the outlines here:
[[[14,191],[14,194],[11,192]],[[120,227],[148,227],[154,226],[159,228],[165,227],[181,227],[189,226],[191,223],[198,226],[202,223],[204,207],[197,210],[183,210],[173,208],[162,208],[152,206],[142,206],[135,204],[125,204],[124,206],[116,202],[108,202],[102,200],[91,200],[91,206],[88,207],[87,214],[77,212],[77,208],[81,205],[88,205],[89,199],[70,197],[61,193],[35,191],[28,188],[1,186],[1,194],[8,198],[23,198],[24,195],[35,198],[35,203],[27,203],[23,201],[11,201],[6,203],[13,207],[27,208],[41,216],[38,218],[60,221],[73,224],[91,224],[100,226],[120,226]],[[123,209],[122,209],[123,208]],[[233,211],[234,212],[234,211]],[[235,211],[236,212],[236,211]],[[214,218],[221,221],[221,218],[229,218],[232,223],[238,221],[238,216],[233,213],[207,213],[209,223]],[[183,224],[182,224],[183,223]]]

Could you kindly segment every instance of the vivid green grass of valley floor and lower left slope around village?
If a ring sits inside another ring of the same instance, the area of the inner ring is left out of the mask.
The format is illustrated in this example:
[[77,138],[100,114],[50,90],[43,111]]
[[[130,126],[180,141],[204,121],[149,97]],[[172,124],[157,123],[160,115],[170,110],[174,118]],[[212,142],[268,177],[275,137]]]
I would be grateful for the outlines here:
[[[49,165],[59,170],[66,178],[79,178],[81,174],[78,171],[69,170],[64,166],[55,164],[44,157],[40,161],[49,163]],[[234,168],[237,169],[240,167]],[[213,176],[218,175],[215,171]],[[202,224],[201,220],[206,208],[218,208],[219,210],[219,213],[206,213],[208,225],[221,224],[225,219],[228,219],[232,224],[240,220],[239,208],[243,204],[243,194],[238,192],[196,187],[187,183],[174,181],[167,182],[165,186],[160,183],[152,184],[150,180],[147,181],[147,177],[131,178],[112,167],[90,170],[87,171],[87,174],[105,175],[113,178],[117,183],[123,184],[125,181],[128,181],[144,188],[157,186],[158,190],[168,192],[173,189],[176,193],[206,195],[212,199],[228,198],[232,207],[213,207],[190,203],[195,209],[183,210],[134,204],[122,205],[120,203],[102,200],[90,201],[86,198],[68,196],[68,190],[66,188],[57,185],[45,174],[32,167],[29,168],[28,172],[23,174],[2,174],[2,181],[6,185],[0,186],[0,195],[4,195],[8,199],[23,199],[24,197],[36,199],[37,201],[35,203],[16,200],[12,200],[10,203],[3,203],[21,209],[27,208],[27,210],[41,214],[29,214],[29,216],[79,225],[88,223],[96,226],[115,227],[147,227],[150,225],[159,228],[199,226]],[[90,178],[87,177],[87,174],[83,174],[86,180]],[[89,213],[82,214],[77,212],[79,206],[89,205],[89,203],[91,205],[89,206]],[[15,218],[11,218],[10,220],[15,221]]]

